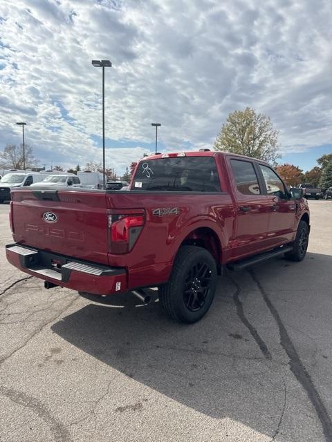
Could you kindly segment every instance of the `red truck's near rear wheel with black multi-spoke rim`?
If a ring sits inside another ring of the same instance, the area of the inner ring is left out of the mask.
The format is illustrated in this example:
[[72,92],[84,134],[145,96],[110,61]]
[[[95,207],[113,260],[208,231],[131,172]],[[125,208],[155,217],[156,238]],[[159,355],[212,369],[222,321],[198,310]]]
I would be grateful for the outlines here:
[[216,262],[203,247],[178,251],[169,281],[159,287],[160,307],[179,323],[196,323],[212,304],[216,291]]

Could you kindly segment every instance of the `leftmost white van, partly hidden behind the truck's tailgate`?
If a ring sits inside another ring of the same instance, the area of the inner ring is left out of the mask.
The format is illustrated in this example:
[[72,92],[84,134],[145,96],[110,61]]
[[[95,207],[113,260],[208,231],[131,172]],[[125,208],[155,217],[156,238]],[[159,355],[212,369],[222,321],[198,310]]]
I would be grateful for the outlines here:
[[0,182],[0,203],[10,200],[10,189],[14,187],[31,186],[44,180],[39,172],[30,171],[5,171]]

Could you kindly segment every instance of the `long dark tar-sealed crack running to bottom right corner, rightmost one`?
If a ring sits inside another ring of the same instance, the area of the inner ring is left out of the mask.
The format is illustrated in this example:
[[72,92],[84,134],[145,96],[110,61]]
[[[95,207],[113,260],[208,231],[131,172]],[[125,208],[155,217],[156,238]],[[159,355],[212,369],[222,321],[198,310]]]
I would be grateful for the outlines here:
[[322,424],[322,429],[324,432],[326,442],[331,442],[332,421],[329,416],[329,413],[326,410],[324,402],[322,401],[320,394],[317,392],[310,374],[308,373],[306,367],[304,367],[304,364],[299,358],[299,355],[297,354],[297,351],[291,341],[291,338],[289,337],[287,330],[284,327],[284,324],[282,323],[282,319],[280,318],[277,309],[275,308],[270,298],[268,297],[268,294],[264,290],[264,287],[257,279],[257,276],[255,275],[254,271],[250,270],[249,273],[250,276],[252,277],[252,280],[257,284],[257,287],[261,292],[261,296],[266,302],[268,309],[270,310],[273,318],[275,319],[275,322],[279,327],[280,345],[282,345],[289,358],[289,365],[291,367],[291,371],[293,372],[295,378],[297,378],[297,381],[302,385],[302,387],[306,391],[309,401],[311,401],[311,404],[316,410],[317,417],[320,420],[320,423]]

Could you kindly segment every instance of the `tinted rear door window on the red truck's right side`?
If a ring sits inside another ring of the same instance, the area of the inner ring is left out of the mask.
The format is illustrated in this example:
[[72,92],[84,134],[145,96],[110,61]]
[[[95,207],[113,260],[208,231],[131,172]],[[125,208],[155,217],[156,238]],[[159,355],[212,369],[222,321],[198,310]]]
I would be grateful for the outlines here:
[[254,165],[249,161],[230,160],[237,190],[242,195],[260,195],[258,178]]

